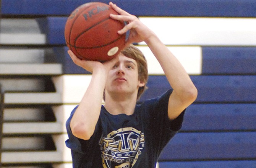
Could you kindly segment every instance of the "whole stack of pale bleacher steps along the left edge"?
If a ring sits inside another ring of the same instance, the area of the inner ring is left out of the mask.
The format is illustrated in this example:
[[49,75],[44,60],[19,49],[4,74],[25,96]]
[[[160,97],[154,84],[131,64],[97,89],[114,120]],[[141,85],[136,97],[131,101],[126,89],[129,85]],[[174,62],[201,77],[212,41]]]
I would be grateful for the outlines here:
[[0,43],[5,45],[0,48],[0,85],[5,92],[1,163],[24,168],[42,159],[60,162],[63,153],[45,137],[64,132],[61,121],[49,119],[53,114],[48,108],[62,103],[51,81],[51,76],[62,74],[62,64],[53,61],[49,47],[33,47],[46,44],[36,19],[1,19]]

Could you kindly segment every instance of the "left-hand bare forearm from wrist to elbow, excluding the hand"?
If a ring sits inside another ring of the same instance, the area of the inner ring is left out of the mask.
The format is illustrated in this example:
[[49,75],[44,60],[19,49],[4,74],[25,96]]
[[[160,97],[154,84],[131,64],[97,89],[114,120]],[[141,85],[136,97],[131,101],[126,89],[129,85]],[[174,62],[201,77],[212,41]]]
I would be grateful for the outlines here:
[[73,134],[80,139],[87,140],[94,132],[100,115],[106,79],[107,74],[104,71],[92,74],[86,93],[73,115],[70,128]]

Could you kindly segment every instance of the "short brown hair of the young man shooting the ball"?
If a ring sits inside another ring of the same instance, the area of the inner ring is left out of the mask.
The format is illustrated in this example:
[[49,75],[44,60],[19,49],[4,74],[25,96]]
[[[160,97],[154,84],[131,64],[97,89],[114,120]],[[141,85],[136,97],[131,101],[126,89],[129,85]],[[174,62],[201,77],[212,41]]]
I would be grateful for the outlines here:
[[138,74],[139,74],[139,81],[145,82],[145,86],[139,87],[137,100],[143,94],[143,92],[147,89],[146,83],[148,78],[148,71],[147,71],[147,60],[144,54],[134,45],[129,45],[125,49],[121,51],[123,55],[128,58],[132,58],[138,64]]

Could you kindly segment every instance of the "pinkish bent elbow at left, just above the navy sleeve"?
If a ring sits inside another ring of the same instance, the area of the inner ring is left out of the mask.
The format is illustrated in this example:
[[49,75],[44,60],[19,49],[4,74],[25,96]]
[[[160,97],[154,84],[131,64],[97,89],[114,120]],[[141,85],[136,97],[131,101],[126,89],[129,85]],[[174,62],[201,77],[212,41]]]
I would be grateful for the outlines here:
[[94,129],[91,129],[89,126],[85,124],[74,124],[70,126],[72,134],[75,137],[83,140],[89,140],[94,133]]

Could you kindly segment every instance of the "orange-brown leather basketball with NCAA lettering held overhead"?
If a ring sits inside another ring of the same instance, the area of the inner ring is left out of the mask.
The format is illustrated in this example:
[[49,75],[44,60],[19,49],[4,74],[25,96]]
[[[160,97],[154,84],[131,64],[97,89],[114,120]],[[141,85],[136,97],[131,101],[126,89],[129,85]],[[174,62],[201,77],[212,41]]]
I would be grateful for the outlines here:
[[66,45],[81,60],[109,61],[125,46],[125,34],[119,35],[125,23],[110,18],[118,15],[101,2],[85,3],[68,17],[65,26]]

